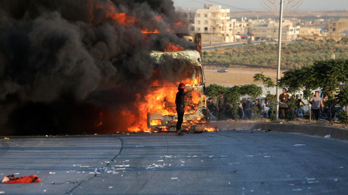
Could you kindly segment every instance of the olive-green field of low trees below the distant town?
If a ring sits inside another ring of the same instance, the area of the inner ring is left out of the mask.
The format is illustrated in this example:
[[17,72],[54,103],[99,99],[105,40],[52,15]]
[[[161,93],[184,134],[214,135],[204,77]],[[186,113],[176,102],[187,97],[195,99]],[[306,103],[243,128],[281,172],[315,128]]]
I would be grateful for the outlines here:
[[[346,58],[348,45],[344,38],[338,42],[306,40],[284,44],[282,45],[282,68],[294,69],[309,66],[314,61],[331,58],[333,53],[337,59]],[[228,48],[216,47],[215,50],[204,51],[202,60],[205,66],[248,65],[276,68],[277,52],[277,44],[261,42],[260,44],[245,44]]]

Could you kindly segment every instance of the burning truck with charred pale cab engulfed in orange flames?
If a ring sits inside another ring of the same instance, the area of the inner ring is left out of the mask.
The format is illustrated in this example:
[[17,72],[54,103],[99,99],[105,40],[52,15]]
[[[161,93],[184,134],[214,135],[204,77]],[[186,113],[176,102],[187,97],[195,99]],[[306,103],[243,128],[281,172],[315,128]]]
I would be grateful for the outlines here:
[[151,131],[176,130],[175,94],[178,84],[184,83],[185,90],[194,88],[194,91],[185,96],[185,113],[182,127],[191,133],[202,133],[207,122],[208,110],[206,108],[205,78],[200,52],[200,34],[178,34],[178,36],[195,43],[193,48],[195,50],[190,48],[189,50],[172,52],[153,51],[150,56],[156,64],[171,63],[171,60],[182,60],[191,68],[186,71],[186,78],[178,80],[176,83],[159,83],[158,80],[151,82],[151,93],[161,95],[156,95],[157,98],[154,101],[160,102],[157,103],[159,109],[152,109],[152,112],[147,113],[147,127]]

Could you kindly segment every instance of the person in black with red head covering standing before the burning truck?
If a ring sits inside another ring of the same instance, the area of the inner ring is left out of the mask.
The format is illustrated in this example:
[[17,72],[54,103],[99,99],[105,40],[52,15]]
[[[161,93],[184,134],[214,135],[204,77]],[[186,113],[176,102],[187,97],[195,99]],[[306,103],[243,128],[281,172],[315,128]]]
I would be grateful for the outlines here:
[[185,95],[193,91],[193,88],[191,91],[184,92],[185,90],[185,84],[180,83],[179,87],[177,88],[179,90],[176,93],[175,97],[175,105],[176,105],[176,112],[177,112],[177,122],[176,122],[176,135],[184,135],[181,133],[181,124],[184,120],[184,112],[185,112]]

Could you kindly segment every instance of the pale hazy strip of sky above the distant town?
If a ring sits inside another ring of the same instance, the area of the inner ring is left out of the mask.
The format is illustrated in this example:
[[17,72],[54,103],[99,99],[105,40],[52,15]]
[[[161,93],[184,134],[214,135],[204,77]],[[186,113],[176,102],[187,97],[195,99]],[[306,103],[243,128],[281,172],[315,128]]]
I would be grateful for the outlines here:
[[[224,9],[231,9],[231,11],[238,11],[243,8],[247,10],[265,10],[260,3],[260,0],[172,0],[175,7],[182,7],[184,9],[203,9],[204,4],[221,5]],[[267,0],[265,0],[267,1]],[[271,1],[271,0],[270,0]],[[275,0],[280,2],[280,0]],[[296,0],[295,0],[296,1]],[[298,0],[297,0],[298,1]],[[224,6],[229,5],[233,7]],[[344,10],[348,9],[348,0],[303,0],[302,5],[296,10]]]

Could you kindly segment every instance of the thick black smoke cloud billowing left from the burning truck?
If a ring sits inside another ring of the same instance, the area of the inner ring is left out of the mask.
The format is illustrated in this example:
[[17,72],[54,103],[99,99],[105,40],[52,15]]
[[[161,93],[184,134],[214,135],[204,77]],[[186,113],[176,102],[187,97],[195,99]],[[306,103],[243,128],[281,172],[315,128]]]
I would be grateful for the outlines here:
[[[171,33],[186,29],[175,25],[181,19],[169,0],[4,0],[1,4],[3,135],[120,130],[125,124],[118,120],[125,118],[118,111],[134,105],[135,94],[144,95],[154,76],[157,65],[149,52],[163,51],[168,43],[190,45]],[[125,26],[107,17],[110,5],[136,20]],[[144,28],[161,33],[144,36]],[[187,64],[177,61],[162,67],[163,75],[156,77],[173,75],[175,80],[185,68]],[[96,129],[102,113],[109,123]]]

